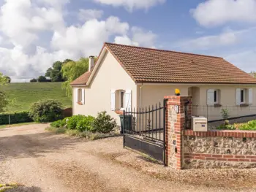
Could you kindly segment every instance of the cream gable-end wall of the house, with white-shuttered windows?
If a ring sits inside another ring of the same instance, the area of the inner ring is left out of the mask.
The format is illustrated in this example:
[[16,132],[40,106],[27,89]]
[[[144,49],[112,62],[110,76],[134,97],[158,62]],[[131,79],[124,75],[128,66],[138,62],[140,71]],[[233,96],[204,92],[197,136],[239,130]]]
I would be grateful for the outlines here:
[[[137,106],[137,85],[125,70],[118,64],[118,61],[111,53],[106,53],[102,62],[91,82],[91,87],[85,88],[85,104],[75,103],[73,87],[73,114],[74,115],[92,115],[96,116],[97,112],[106,110],[109,115],[116,118],[118,125],[120,120],[116,112],[111,110],[110,99],[111,90],[131,90],[132,107]],[[81,87],[79,87],[81,88]]]

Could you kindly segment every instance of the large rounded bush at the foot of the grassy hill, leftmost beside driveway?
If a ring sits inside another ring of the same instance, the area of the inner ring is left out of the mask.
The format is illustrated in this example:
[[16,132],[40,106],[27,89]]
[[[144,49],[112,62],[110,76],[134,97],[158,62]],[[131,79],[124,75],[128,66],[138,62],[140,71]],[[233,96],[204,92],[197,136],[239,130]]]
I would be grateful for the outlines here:
[[52,122],[62,118],[62,104],[56,100],[42,100],[32,104],[30,117],[39,123]]

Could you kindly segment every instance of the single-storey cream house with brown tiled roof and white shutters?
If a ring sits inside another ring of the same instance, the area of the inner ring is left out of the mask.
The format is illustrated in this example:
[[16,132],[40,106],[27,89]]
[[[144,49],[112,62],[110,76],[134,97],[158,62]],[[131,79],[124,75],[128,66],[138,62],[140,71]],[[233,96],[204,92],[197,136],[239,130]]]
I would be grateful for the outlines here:
[[89,72],[71,86],[74,115],[106,110],[118,119],[120,110],[162,103],[176,88],[192,96],[193,115],[222,119],[223,107],[230,117],[256,114],[256,79],[208,55],[105,43],[96,64],[90,57]]

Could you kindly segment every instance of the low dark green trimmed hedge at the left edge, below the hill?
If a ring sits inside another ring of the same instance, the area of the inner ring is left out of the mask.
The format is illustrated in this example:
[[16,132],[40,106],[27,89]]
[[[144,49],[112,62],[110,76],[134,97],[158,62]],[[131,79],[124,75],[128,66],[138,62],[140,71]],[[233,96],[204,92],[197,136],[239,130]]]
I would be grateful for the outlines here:
[[29,112],[12,112],[12,113],[0,113],[0,125],[9,124],[9,115],[11,124],[14,123],[26,123],[33,120],[29,117]]

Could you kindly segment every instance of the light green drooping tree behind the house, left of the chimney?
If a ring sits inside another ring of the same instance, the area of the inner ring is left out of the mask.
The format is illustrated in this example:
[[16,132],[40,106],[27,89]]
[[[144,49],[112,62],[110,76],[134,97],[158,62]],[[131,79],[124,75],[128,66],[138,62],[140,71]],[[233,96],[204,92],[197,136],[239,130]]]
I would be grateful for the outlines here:
[[62,77],[67,79],[66,82],[62,83],[62,88],[66,91],[67,96],[72,96],[72,88],[70,88],[70,82],[87,72],[88,69],[89,58],[80,58],[79,61],[69,61],[62,66]]

